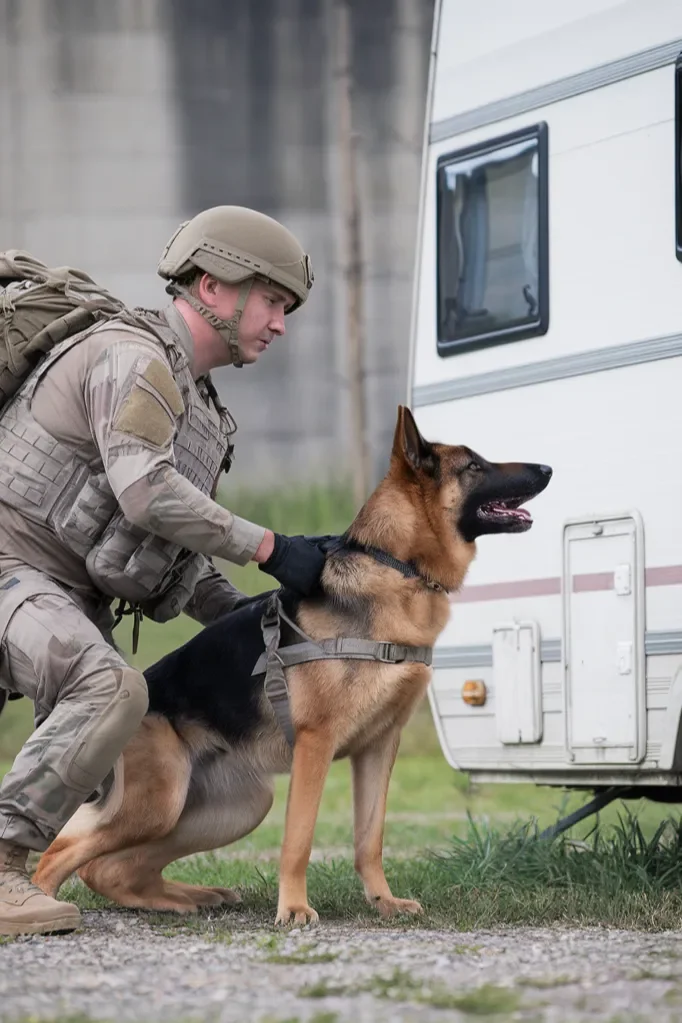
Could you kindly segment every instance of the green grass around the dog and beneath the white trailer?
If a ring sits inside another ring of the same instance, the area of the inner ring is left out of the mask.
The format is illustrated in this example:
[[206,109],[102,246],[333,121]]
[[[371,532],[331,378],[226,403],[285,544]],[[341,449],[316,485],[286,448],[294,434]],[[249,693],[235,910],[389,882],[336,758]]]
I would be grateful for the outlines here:
[[[288,533],[340,532],[353,518],[343,487],[236,494],[226,503],[244,518]],[[245,592],[271,585],[254,565],[238,569],[223,563],[221,568]],[[117,638],[129,659],[144,668],[197,630],[184,616],[166,625],[145,621],[135,658],[128,621]],[[20,700],[0,716],[0,776],[31,732],[31,714],[30,703]],[[276,780],[273,810],[253,835],[219,854],[176,863],[169,877],[239,887],[247,917],[259,926],[271,923],[287,785],[286,777]],[[422,705],[403,736],[384,834],[387,873],[395,893],[418,899],[427,910],[424,920],[410,920],[410,925],[467,930],[560,922],[677,929],[682,918],[682,826],[677,816],[669,817],[669,807],[633,801],[625,810],[625,804],[613,803],[562,839],[537,841],[538,829],[586,798],[528,784],[470,784],[446,763],[427,705]],[[587,845],[573,845],[572,839],[590,836],[597,819],[599,830]],[[352,838],[350,767],[338,762],[329,772],[316,829],[314,858],[320,852],[325,856],[310,868],[311,903],[321,916],[369,924],[376,918],[352,870]],[[84,907],[104,904],[82,886],[72,886],[71,893]],[[157,918],[170,935],[191,928],[215,940],[229,940],[231,919],[230,911],[212,921]],[[276,946],[271,951],[278,954]]]

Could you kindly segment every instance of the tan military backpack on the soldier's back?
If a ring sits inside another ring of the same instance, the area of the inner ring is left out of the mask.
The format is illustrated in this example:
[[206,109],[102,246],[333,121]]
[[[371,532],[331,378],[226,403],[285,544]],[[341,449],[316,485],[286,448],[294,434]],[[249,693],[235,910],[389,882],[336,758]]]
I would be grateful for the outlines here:
[[0,414],[50,349],[125,309],[82,270],[0,252]]

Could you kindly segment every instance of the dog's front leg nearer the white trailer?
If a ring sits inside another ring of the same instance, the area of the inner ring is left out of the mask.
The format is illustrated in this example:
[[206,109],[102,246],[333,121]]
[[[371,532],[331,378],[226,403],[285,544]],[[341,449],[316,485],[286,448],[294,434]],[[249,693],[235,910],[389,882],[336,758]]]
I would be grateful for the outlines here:
[[395,898],[383,873],[383,822],[389,782],[400,745],[400,730],[351,757],[355,804],[355,869],[365,887],[367,901],[382,917],[397,913],[423,913],[418,902]]

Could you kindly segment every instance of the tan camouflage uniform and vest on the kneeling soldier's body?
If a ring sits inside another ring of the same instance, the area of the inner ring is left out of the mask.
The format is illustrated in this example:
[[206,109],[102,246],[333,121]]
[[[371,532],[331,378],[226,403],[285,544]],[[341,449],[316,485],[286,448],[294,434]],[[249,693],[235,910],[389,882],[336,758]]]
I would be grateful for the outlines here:
[[192,381],[184,320],[145,315],[149,329],[109,321],[62,343],[0,418],[0,686],[35,702],[38,725],[0,786],[0,839],[31,849],[146,710],[110,597],[207,624],[240,596],[209,557],[245,564],[265,533],[213,500],[229,427]]

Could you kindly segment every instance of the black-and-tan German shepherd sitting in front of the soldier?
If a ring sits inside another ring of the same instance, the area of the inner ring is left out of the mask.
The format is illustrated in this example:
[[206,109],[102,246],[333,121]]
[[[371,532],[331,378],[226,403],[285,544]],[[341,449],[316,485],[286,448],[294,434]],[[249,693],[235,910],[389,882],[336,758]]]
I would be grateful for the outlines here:
[[[389,472],[327,555],[320,588],[287,614],[313,639],[359,637],[430,647],[485,533],[521,533],[520,505],[547,486],[546,465],[494,464],[467,447],[429,443],[400,407]],[[410,577],[361,548],[410,563]],[[382,866],[387,794],[401,729],[423,697],[421,663],[314,661],[287,668],[291,751],[252,672],[263,650],[264,601],[204,628],[146,672],[149,712],[105,796],[84,804],[40,859],[35,881],[55,895],[78,871],[124,906],[195,911],[237,902],[230,889],[179,884],[162,871],[229,845],[264,819],[272,776],[289,771],[276,923],[315,922],[306,870],[329,764],[350,757],[355,866],[382,917],[421,913],[396,898]],[[295,641],[295,637],[294,637]],[[123,769],[122,769],[123,765]]]

